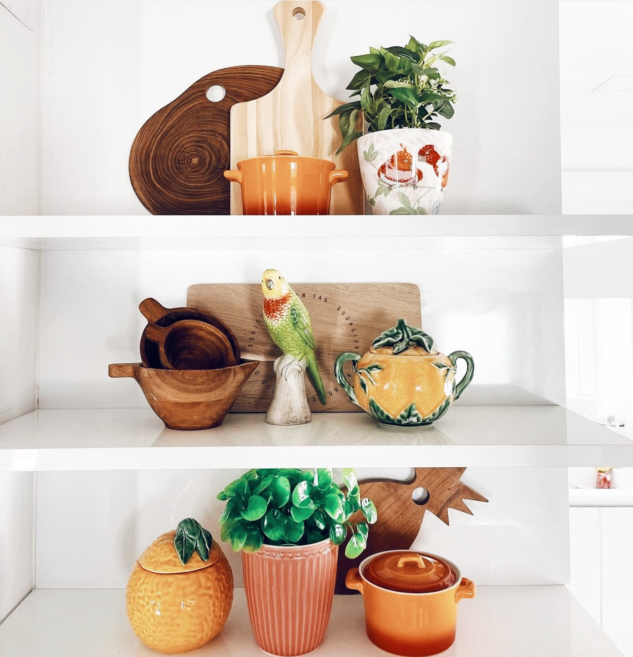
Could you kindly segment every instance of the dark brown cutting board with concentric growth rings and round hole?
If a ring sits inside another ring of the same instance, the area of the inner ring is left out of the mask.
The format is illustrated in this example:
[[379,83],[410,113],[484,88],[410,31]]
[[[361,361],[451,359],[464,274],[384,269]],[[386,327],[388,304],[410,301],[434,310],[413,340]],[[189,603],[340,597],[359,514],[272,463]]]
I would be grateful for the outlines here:
[[[200,78],[153,114],[129,153],[129,179],[152,214],[230,214],[231,107],[266,95],[283,68],[232,66]],[[206,97],[220,85],[221,101]]]

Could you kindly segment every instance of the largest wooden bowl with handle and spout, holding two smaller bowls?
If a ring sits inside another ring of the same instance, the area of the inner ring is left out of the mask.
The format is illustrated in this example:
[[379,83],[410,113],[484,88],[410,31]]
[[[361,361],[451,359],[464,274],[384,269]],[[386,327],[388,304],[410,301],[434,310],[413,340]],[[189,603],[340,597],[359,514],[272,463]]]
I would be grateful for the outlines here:
[[222,424],[259,361],[214,370],[168,370],[113,363],[108,375],[134,378],[168,429],[210,429]]

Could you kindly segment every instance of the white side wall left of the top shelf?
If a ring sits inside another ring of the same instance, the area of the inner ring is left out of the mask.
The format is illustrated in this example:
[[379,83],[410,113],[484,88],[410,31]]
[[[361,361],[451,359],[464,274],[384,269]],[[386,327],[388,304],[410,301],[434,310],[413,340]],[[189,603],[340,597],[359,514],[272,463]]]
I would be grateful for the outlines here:
[[39,213],[39,3],[0,5],[0,215]]

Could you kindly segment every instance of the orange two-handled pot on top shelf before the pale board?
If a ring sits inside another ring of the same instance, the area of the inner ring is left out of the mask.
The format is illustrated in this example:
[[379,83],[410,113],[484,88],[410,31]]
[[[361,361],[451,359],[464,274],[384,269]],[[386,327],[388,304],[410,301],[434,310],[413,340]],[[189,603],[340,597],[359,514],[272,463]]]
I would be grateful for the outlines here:
[[243,214],[329,214],[332,185],[348,177],[334,167],[329,160],[278,150],[242,160],[224,177],[240,183]]

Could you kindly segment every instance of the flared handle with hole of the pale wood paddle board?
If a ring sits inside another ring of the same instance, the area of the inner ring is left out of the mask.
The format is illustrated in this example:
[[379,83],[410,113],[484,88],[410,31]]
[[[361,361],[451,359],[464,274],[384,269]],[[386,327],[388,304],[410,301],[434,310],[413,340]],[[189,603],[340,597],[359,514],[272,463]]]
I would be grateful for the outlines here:
[[319,0],[281,0],[273,7],[286,53],[285,81],[312,79],[312,45],[323,14],[325,5]]

